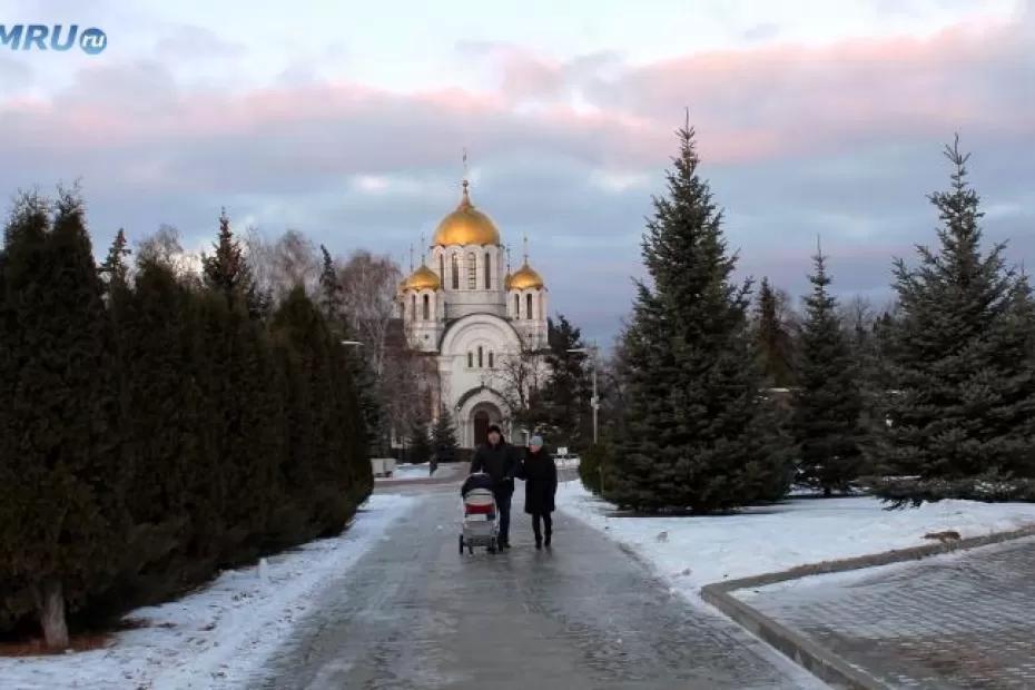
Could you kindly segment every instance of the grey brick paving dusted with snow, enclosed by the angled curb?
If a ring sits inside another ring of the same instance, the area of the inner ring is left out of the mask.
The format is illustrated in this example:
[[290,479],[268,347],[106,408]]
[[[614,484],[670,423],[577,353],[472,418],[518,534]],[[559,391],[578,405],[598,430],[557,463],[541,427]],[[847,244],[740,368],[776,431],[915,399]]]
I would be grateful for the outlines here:
[[1035,539],[736,594],[891,688],[1035,688]]

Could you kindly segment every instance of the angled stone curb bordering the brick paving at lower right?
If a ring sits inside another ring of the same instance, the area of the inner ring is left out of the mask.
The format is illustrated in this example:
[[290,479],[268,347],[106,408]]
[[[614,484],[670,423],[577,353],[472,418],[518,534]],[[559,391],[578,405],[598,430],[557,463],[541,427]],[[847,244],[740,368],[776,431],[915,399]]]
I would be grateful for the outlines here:
[[848,663],[830,650],[816,644],[793,630],[763,615],[755,608],[733,597],[732,592],[742,589],[767,586],[769,584],[786,582],[787,580],[797,580],[809,575],[846,572],[849,570],[877,568],[891,563],[915,561],[931,555],[977,549],[979,546],[998,544],[1000,542],[1026,536],[1035,536],[1035,524],[1018,530],[996,532],[984,536],[972,536],[955,542],[925,544],[923,546],[897,549],[851,559],[822,561],[821,563],[798,565],[797,568],[780,572],[741,578],[728,582],[714,582],[701,588],[701,599],[719,609],[749,632],[772,645],[781,653],[789,657],[795,663],[804,667],[814,676],[834,688],[844,688],[848,690],[888,690],[888,686],[873,678],[858,667]]

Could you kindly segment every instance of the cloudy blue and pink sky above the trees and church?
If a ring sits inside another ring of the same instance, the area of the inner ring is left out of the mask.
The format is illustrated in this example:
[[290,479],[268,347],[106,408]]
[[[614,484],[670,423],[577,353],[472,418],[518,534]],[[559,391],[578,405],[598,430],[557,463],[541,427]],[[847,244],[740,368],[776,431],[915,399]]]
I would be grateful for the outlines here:
[[95,241],[296,228],[408,262],[472,197],[608,342],[689,108],[745,274],[888,297],[933,238],[940,148],[973,151],[992,239],[1035,264],[1035,0],[7,0],[99,56],[0,47],[0,194],[81,178]]

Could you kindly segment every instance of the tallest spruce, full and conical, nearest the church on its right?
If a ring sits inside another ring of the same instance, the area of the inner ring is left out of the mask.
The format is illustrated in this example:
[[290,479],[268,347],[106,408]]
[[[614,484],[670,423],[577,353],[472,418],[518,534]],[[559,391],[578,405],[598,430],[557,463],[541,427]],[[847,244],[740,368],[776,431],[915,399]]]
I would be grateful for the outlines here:
[[792,445],[761,394],[750,286],[732,282],[736,257],[689,126],[679,144],[643,239],[652,285],[639,285],[623,342],[627,418],[605,494],[639,509],[710,512],[783,495]]

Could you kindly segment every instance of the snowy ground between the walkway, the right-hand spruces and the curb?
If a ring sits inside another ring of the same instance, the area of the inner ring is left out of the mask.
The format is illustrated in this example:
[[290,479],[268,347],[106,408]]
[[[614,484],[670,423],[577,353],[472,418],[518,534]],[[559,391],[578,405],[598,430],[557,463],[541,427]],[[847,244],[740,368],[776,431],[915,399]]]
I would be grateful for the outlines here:
[[1031,503],[942,501],[887,511],[871,497],[792,499],[732,515],[612,518],[614,506],[578,481],[561,484],[558,507],[632,548],[692,601],[712,582],[929,544],[928,532],[967,538],[1035,523]]

